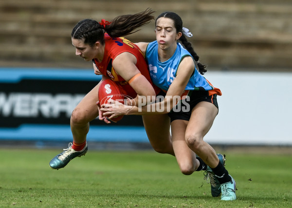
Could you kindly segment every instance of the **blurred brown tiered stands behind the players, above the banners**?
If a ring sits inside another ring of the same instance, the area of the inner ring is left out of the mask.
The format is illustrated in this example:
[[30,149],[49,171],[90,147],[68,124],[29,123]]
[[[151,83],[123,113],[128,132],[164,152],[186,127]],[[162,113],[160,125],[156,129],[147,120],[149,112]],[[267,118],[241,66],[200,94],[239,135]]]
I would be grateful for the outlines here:
[[[152,8],[178,13],[201,62],[216,69],[291,70],[291,0],[0,0],[0,65],[91,67],[74,56],[81,19],[111,20]],[[152,41],[154,21],[128,36]]]

